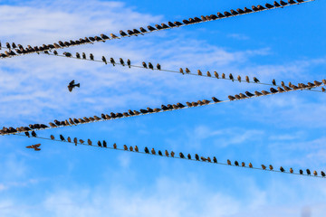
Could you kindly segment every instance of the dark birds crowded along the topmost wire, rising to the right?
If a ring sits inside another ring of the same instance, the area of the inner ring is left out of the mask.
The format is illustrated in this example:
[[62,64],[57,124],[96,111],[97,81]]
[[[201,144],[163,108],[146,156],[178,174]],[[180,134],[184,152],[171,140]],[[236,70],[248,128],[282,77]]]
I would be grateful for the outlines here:
[[[9,49],[9,51],[5,51],[5,53],[0,53],[1,58],[8,58],[8,57],[13,57],[16,55],[24,55],[28,53],[34,53],[34,52],[44,52],[44,51],[49,51],[52,49],[60,49],[60,48],[65,48],[65,47],[71,47],[71,46],[77,46],[77,45],[82,45],[86,43],[93,43],[93,42],[105,42],[107,40],[111,39],[120,39],[123,37],[130,37],[130,36],[138,36],[139,34],[144,34],[144,33],[151,33],[154,31],[160,31],[164,29],[171,29],[171,28],[176,28],[180,27],[183,25],[189,25],[189,24],[198,24],[198,23],[203,23],[203,22],[208,22],[212,20],[217,20],[217,19],[222,19],[222,18],[227,18],[227,17],[232,17],[236,15],[241,15],[241,14],[251,14],[251,13],[256,13],[260,11],[265,11],[265,10],[270,10],[273,8],[283,8],[284,6],[287,5],[299,5],[302,3],[307,3],[311,2],[314,0],[309,0],[309,1],[304,1],[304,0],[297,0],[296,2],[293,0],[288,0],[288,2],[280,1],[276,2],[274,1],[273,4],[268,4],[266,3],[265,6],[263,5],[252,5],[252,9],[249,9],[245,7],[244,9],[237,8],[236,10],[230,10],[230,12],[225,11],[224,13],[218,12],[217,14],[211,14],[211,15],[201,15],[199,17],[194,17],[194,18],[189,18],[185,19],[182,21],[182,23],[176,21],[174,23],[168,22],[168,24],[155,24],[155,27],[149,25],[148,30],[146,30],[143,27],[140,27],[138,29],[133,29],[133,30],[128,30],[127,33],[125,31],[120,30],[120,36],[117,36],[116,34],[110,33],[110,37],[107,36],[104,33],[101,33],[101,36],[93,36],[93,37],[84,37],[79,40],[70,40],[69,42],[54,42],[53,44],[43,44],[42,46],[31,46],[27,45],[27,47],[24,48],[22,44],[15,44],[14,42],[10,44],[9,42],[6,42],[6,48]],[[0,43],[1,47],[1,43]],[[13,51],[14,49],[14,51]]]

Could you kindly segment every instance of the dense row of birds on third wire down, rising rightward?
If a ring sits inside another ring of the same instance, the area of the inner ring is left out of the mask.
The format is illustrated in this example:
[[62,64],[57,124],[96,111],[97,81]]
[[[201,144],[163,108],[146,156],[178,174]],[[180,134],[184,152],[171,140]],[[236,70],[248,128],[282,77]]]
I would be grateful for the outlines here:
[[[309,82],[311,83],[311,82]],[[312,83],[311,83],[312,84]],[[323,80],[323,82],[314,81],[314,86],[321,86],[321,85],[326,85],[326,80]],[[93,116],[90,118],[84,117],[84,118],[68,118],[66,120],[59,121],[55,119],[53,122],[49,122],[50,127],[44,125],[44,124],[31,124],[29,127],[3,127],[0,130],[0,135],[9,135],[9,134],[16,134],[20,132],[28,132],[28,131],[33,131],[33,130],[42,130],[46,128],[53,128],[53,127],[67,127],[67,126],[75,126],[75,125],[81,125],[81,124],[86,124],[86,123],[91,123],[91,122],[98,122],[98,121],[104,121],[104,120],[110,120],[110,119],[117,119],[117,118],[130,118],[134,116],[139,116],[139,115],[147,115],[147,114],[155,114],[158,112],[165,112],[165,111],[171,111],[171,110],[177,110],[177,109],[189,109],[189,108],[196,108],[198,106],[206,106],[206,105],[213,105],[216,103],[221,103],[221,102],[227,102],[227,101],[234,101],[236,99],[251,99],[254,97],[262,97],[270,94],[277,94],[277,93],[284,93],[288,91],[295,91],[295,90],[305,90],[309,89],[312,86],[311,85],[306,85],[303,83],[299,83],[298,87],[295,86],[295,88],[290,89],[289,87],[285,86],[286,88],[282,89],[281,87],[278,87],[277,90],[271,88],[270,91],[262,90],[262,91],[254,91],[254,93],[251,93],[249,91],[245,91],[245,93],[239,93],[233,95],[229,95],[228,99],[229,100],[220,100],[216,99],[216,97],[212,97],[212,100],[207,100],[207,99],[202,99],[202,100],[197,100],[197,101],[192,101],[186,102],[186,105],[183,103],[177,102],[177,104],[168,104],[168,105],[161,105],[161,108],[147,108],[147,109],[139,109],[139,110],[131,110],[129,109],[127,112],[123,113],[114,113],[110,112],[109,114],[101,114],[101,118],[98,116]]]

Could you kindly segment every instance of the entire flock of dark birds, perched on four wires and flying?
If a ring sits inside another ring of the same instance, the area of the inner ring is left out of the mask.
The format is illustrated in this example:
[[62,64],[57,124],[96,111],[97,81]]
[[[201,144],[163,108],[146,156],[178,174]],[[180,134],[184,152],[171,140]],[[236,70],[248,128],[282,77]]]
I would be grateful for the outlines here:
[[[120,36],[110,33],[110,37],[109,37],[102,33],[101,36],[85,37],[85,38],[81,38],[80,40],[76,40],[76,41],[73,41],[73,40],[70,40],[69,42],[59,41],[59,42],[54,42],[53,44],[47,44],[47,45],[43,44],[42,46],[34,46],[34,47],[31,45],[27,45],[27,47],[25,47],[25,48],[22,44],[16,45],[14,42],[12,42],[12,43],[6,42],[5,47],[2,47],[2,44],[0,42],[0,50],[1,50],[1,48],[7,49],[7,51],[5,51],[5,53],[0,53],[0,57],[8,58],[8,57],[13,57],[13,56],[17,56],[17,55],[34,53],[34,52],[36,52],[38,54],[39,53],[52,54],[50,52],[53,52],[53,55],[59,55],[59,53],[56,51],[56,49],[62,49],[62,48],[67,48],[67,47],[71,47],[71,46],[82,45],[85,43],[105,42],[107,40],[120,39],[123,37],[130,37],[133,35],[138,36],[139,34],[151,33],[151,32],[158,31],[158,30],[170,29],[170,28],[175,28],[175,27],[188,25],[188,24],[198,24],[198,23],[212,21],[212,20],[216,20],[216,19],[231,17],[231,16],[235,16],[235,15],[239,15],[239,14],[250,14],[250,13],[269,10],[269,9],[273,9],[273,8],[282,8],[283,6],[286,6],[286,5],[298,5],[298,4],[302,4],[304,2],[311,2],[311,1],[313,1],[313,0],[308,0],[308,1],[288,0],[288,2],[284,2],[282,0],[280,2],[274,1],[272,5],[271,4],[265,4],[264,6],[263,5],[256,5],[256,6],[253,5],[251,7],[251,9],[245,7],[244,9],[237,8],[236,10],[230,10],[230,12],[225,11],[224,13],[218,12],[217,14],[211,14],[211,15],[206,15],[206,16],[201,15],[200,16],[201,18],[198,18],[198,17],[189,18],[187,20],[183,20],[182,23],[176,21],[174,23],[168,22],[168,24],[155,24],[155,27],[149,25],[147,29],[140,27],[139,29],[128,30],[126,32],[121,30]],[[62,54],[64,57],[68,57],[68,58],[73,57],[76,59],[96,61],[94,59],[94,55],[92,53],[89,55],[89,59],[84,52],[82,52],[82,53],[76,52],[75,57],[72,55],[71,52],[63,52]],[[161,65],[159,63],[155,67],[151,62],[143,61],[141,66],[132,66],[131,61],[129,59],[127,61],[124,61],[122,58],[120,58],[119,61],[115,61],[113,58],[110,58],[107,60],[105,56],[101,57],[101,61],[104,62],[105,64],[110,63],[113,66],[115,66],[116,64],[120,64],[122,66],[128,66],[129,68],[130,67],[141,67],[141,68],[149,69],[149,70],[162,71]],[[167,71],[167,70],[165,70],[165,71]],[[191,73],[191,71],[188,68],[180,68],[179,71],[172,71],[172,72],[178,72],[181,74],[193,74],[193,75],[195,74],[195,73]],[[195,74],[195,75],[206,76],[206,77],[215,77],[216,79],[224,79],[224,80],[232,80],[232,81],[237,80],[239,82],[246,81],[248,83],[250,83],[250,82],[260,83],[260,80],[258,80],[255,77],[253,78],[254,81],[251,81],[248,76],[245,76],[245,80],[242,80],[242,77],[240,75],[238,75],[235,78],[235,76],[232,73],[230,73],[228,76],[226,76],[225,73],[222,73],[221,75],[219,75],[216,71],[214,71],[213,73],[211,73],[210,71],[206,71],[206,73],[203,73],[202,71],[197,70],[197,74]],[[41,130],[41,129],[53,128],[53,127],[75,126],[75,125],[79,125],[79,124],[97,122],[97,121],[101,121],[101,120],[109,120],[109,119],[115,119],[115,118],[128,118],[128,117],[133,117],[133,116],[158,113],[158,112],[162,112],[162,111],[194,108],[194,107],[198,107],[198,106],[216,104],[216,103],[225,102],[225,101],[234,101],[236,99],[250,99],[253,97],[261,97],[261,96],[265,96],[265,95],[283,93],[283,92],[293,91],[293,90],[312,90],[313,88],[326,85],[326,80],[321,80],[321,82],[314,80],[313,82],[308,82],[307,84],[298,83],[297,86],[292,84],[291,82],[289,82],[288,86],[286,86],[283,81],[281,82],[281,85],[277,85],[276,81],[273,80],[272,85],[278,86],[278,87],[270,88],[270,92],[266,91],[266,90],[254,91],[254,93],[245,91],[245,93],[229,95],[228,96],[229,100],[219,100],[219,99],[216,99],[216,97],[212,97],[212,100],[202,99],[202,100],[197,100],[197,101],[192,101],[192,102],[187,101],[185,104],[177,102],[177,104],[161,105],[160,108],[155,108],[155,109],[151,109],[148,107],[147,109],[139,109],[139,110],[129,109],[128,111],[122,112],[122,113],[119,113],[119,112],[118,113],[110,112],[110,114],[102,113],[101,118],[98,116],[93,116],[90,118],[87,118],[87,117],[68,118],[68,119],[65,119],[62,121],[55,119],[53,122],[49,122],[50,127],[46,126],[44,124],[31,124],[31,125],[29,125],[29,127],[16,127],[16,128],[3,127],[2,129],[0,129],[0,135],[18,134],[18,133],[24,132],[25,137],[37,137],[35,130]],[[76,87],[80,88],[80,83],[76,83],[75,80],[72,80],[68,84],[69,91],[72,91]],[[322,87],[321,91],[324,92],[325,89]],[[30,132],[31,132],[31,134],[30,134]],[[20,136],[22,136],[22,135],[20,135]],[[38,138],[42,138],[42,137],[38,137]],[[51,135],[50,138],[51,138],[51,140],[55,140],[55,137],[53,135]],[[46,139],[46,138],[44,138],[44,139]],[[73,139],[71,137],[67,137],[67,139],[65,139],[65,137],[60,135],[59,141],[74,143],[75,146],[77,146],[77,144],[86,145],[86,142],[84,140],[78,139],[77,137],[74,137]],[[96,146],[96,145],[93,145],[91,139],[87,139],[87,145],[88,146]],[[34,151],[40,151],[41,150],[40,146],[41,146],[41,144],[35,144],[32,146],[26,146],[26,148],[34,149]],[[107,142],[105,140],[98,141],[97,146],[111,148],[107,145]],[[136,152],[136,153],[143,153],[143,154],[149,154],[149,155],[151,154],[154,156],[175,157],[175,158],[195,160],[195,161],[200,161],[200,162],[215,163],[215,164],[220,164],[220,165],[235,165],[235,166],[239,166],[239,167],[254,168],[254,169],[261,169],[261,170],[268,170],[268,171],[276,172],[276,170],[274,170],[274,168],[273,168],[273,165],[269,165],[268,168],[265,165],[261,165],[261,168],[255,168],[252,165],[252,163],[245,165],[245,162],[242,162],[241,164],[239,164],[238,161],[235,161],[234,164],[232,164],[232,162],[230,160],[227,160],[226,164],[223,164],[223,163],[217,162],[216,156],[213,156],[212,158],[210,158],[209,156],[199,156],[196,154],[194,156],[195,158],[193,159],[190,154],[187,154],[187,156],[186,156],[182,152],[180,152],[178,154],[178,156],[176,156],[176,154],[173,151],[168,152],[168,150],[165,150],[165,152],[163,153],[161,150],[156,151],[154,148],[151,148],[149,151],[148,147],[145,147],[144,152],[141,152],[141,151],[139,151],[138,146],[129,146],[128,147],[128,146],[124,145],[123,149],[122,148],[120,149],[120,148],[118,148],[118,146],[116,144],[113,144],[112,149],[124,150],[124,151],[129,151],[129,152]],[[280,167],[279,172],[295,174],[293,172],[292,168],[290,168],[289,171],[287,172],[283,168],[283,166]],[[311,172],[311,170],[307,169],[306,174],[304,174],[303,170],[299,170],[298,175],[318,176],[318,172],[317,171]],[[323,171],[321,171],[320,175],[321,175],[321,177],[325,177],[325,173]]]

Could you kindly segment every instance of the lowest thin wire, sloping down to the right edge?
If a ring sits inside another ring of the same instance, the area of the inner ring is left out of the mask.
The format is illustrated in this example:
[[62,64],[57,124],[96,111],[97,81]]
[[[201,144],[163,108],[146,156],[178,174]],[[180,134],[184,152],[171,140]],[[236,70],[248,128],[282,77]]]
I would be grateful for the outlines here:
[[[16,134],[15,136],[27,137],[27,136],[21,135],[21,134]],[[89,144],[84,144],[84,143],[81,143],[81,142],[78,142],[78,141],[77,142],[68,142],[65,139],[64,140],[58,140],[58,139],[55,139],[55,138],[51,139],[51,138],[47,138],[47,137],[34,137],[34,138],[39,138],[39,139],[43,139],[43,140],[50,140],[50,141],[55,141],[55,142],[75,144],[75,146],[80,145],[80,146],[92,146],[92,147],[99,147],[99,148],[107,148],[107,149],[110,149],[110,150],[124,151],[124,152],[129,152],[129,153],[137,153],[137,154],[142,154],[142,155],[147,155],[147,156],[162,156],[162,157],[177,158],[177,159],[183,159],[183,160],[188,160],[188,161],[193,161],[193,162],[200,162],[200,163],[208,163],[208,164],[216,164],[216,165],[229,165],[229,166],[241,167],[241,168],[246,168],[246,169],[261,170],[261,171],[273,172],[273,173],[281,173],[281,174],[283,173],[283,174],[289,174],[289,175],[304,175],[304,176],[315,177],[315,178],[324,178],[321,175],[305,175],[305,174],[295,173],[294,171],[292,171],[292,173],[291,173],[291,172],[287,172],[287,171],[281,172],[281,171],[273,170],[273,169],[263,169],[263,168],[254,167],[254,166],[250,167],[250,166],[247,166],[247,165],[241,165],[242,163],[239,163],[239,165],[235,165],[235,164],[232,164],[231,161],[229,163],[220,163],[216,159],[216,162],[214,162],[214,160],[212,161],[210,158],[209,158],[210,160],[208,160],[208,157],[199,156],[199,155],[198,155],[199,160],[193,159],[192,157],[189,159],[189,158],[187,158],[187,156],[184,156],[184,157],[170,156],[172,151],[168,152],[168,156],[167,156],[167,155],[165,155],[165,153],[161,153],[161,155],[159,155],[159,154],[157,154],[157,151],[155,151],[155,154],[153,154],[153,153],[151,153],[151,151],[149,149],[148,149],[148,151],[151,154],[146,153],[145,151],[140,151],[140,150],[139,151],[134,151],[134,147],[132,147],[132,150],[130,150],[130,147],[128,147],[126,145],[124,145],[124,146],[126,146],[127,149],[119,148],[118,146],[116,146],[116,147],[114,147],[114,146],[113,147],[110,147],[110,146],[104,147],[104,146],[102,146],[101,141],[100,141],[101,146],[94,146],[94,145],[92,145],[92,142],[91,142],[91,145],[89,145]],[[201,158],[201,157],[204,157],[205,160],[203,160],[203,158]],[[212,158],[214,159],[214,157],[212,157]]]

